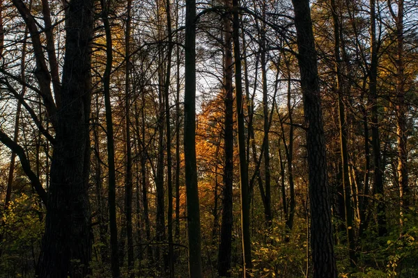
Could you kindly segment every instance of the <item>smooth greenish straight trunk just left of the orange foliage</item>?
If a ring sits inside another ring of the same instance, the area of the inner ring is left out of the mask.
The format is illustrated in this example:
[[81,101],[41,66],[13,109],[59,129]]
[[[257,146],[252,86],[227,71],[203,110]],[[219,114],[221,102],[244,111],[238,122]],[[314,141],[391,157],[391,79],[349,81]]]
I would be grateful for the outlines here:
[[199,190],[196,169],[196,1],[186,0],[185,31],[185,171],[189,277],[203,277]]

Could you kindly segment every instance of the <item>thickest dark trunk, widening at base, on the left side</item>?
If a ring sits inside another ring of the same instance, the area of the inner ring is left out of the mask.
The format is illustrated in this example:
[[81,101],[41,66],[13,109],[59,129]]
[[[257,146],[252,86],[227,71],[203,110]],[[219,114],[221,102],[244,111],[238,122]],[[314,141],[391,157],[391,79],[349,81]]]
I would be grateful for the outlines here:
[[70,1],[68,15],[63,105],[56,115],[56,143],[50,172],[45,236],[38,263],[39,277],[86,277],[90,272],[91,219],[86,158],[89,156],[93,1]]

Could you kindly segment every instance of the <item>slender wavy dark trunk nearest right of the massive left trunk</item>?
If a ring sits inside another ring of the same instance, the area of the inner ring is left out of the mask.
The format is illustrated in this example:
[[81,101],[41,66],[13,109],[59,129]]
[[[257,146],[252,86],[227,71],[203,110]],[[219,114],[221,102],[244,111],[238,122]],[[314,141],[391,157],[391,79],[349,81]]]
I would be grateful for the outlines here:
[[[110,1],[110,0],[109,0]],[[104,32],[106,33],[106,68],[103,76],[104,106],[106,110],[106,136],[107,136],[107,164],[109,167],[108,178],[108,198],[109,198],[109,227],[110,227],[110,248],[111,248],[111,274],[113,278],[121,275],[119,269],[118,254],[118,227],[116,224],[116,170],[115,170],[115,150],[114,150],[114,131],[111,116],[110,101],[110,75],[113,63],[113,44],[111,39],[111,27],[109,24],[108,7],[109,2],[100,0],[102,8],[102,21]]]

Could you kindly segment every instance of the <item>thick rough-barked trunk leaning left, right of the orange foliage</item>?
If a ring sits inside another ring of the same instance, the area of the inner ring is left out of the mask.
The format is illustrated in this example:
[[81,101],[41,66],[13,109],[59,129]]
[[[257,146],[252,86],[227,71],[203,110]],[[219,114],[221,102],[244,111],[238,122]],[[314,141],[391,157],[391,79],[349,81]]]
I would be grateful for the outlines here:
[[311,199],[311,248],[314,278],[338,275],[332,239],[331,204],[314,32],[309,0],[292,0],[299,54],[300,79],[307,128],[309,196]]

